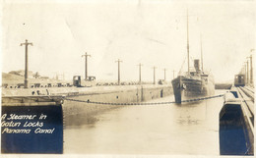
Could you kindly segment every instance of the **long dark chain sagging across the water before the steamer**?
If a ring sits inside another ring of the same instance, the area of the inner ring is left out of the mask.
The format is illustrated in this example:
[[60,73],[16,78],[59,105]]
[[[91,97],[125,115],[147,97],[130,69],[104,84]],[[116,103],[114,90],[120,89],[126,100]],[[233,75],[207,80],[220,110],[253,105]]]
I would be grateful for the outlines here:
[[[200,100],[208,100],[208,99],[213,99],[217,97],[222,97],[224,94],[220,95],[214,95],[214,96],[208,96],[208,97],[203,97],[203,98],[197,98],[197,99],[189,99],[189,100],[183,100],[181,102],[195,102],[195,101],[200,101]],[[167,101],[167,102],[134,102],[134,103],[111,103],[111,102],[98,102],[98,101],[91,101],[91,100],[78,100],[78,99],[69,99],[69,98],[64,98],[64,100],[68,101],[74,101],[74,102],[83,102],[83,103],[88,103],[88,104],[102,104],[102,105],[160,105],[160,104],[174,104],[176,103],[175,101]]]

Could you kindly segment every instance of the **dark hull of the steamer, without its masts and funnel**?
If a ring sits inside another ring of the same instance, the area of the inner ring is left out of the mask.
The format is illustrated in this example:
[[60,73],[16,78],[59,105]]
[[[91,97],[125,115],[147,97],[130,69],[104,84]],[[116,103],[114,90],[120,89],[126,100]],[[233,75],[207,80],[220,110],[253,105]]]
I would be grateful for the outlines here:
[[189,79],[179,76],[171,81],[176,103],[187,99],[196,99],[203,96],[213,95],[214,83],[205,82],[202,79]]

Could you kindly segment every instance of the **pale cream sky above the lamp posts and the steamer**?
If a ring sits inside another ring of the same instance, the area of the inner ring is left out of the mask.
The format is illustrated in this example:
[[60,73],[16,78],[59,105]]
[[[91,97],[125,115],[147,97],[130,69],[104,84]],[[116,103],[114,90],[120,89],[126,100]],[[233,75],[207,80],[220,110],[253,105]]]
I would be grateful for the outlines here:
[[[75,0],[4,1],[2,3],[2,72],[25,68],[26,39],[29,70],[50,78],[89,76],[117,80],[173,79],[187,56],[187,10],[190,58],[201,58],[216,82],[232,80],[255,48],[253,1]],[[200,35],[201,34],[201,35]],[[254,60],[254,55],[253,55]],[[184,64],[183,64],[184,63]],[[182,67],[183,65],[183,67]],[[192,67],[192,62],[190,62]]]

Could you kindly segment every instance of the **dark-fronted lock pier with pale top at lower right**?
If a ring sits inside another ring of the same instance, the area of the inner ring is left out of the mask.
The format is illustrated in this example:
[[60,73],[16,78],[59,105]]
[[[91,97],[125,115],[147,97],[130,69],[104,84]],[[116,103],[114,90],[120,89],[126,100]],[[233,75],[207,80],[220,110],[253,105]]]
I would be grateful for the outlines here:
[[[250,89],[250,90],[248,90]],[[222,155],[254,155],[254,96],[251,87],[232,87],[220,112]]]

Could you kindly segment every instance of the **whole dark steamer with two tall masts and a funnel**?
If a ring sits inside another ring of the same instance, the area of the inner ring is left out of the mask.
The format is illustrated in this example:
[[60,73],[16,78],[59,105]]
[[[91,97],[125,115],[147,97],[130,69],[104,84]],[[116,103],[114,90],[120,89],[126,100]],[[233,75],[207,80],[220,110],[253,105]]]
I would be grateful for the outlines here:
[[215,81],[211,73],[203,71],[203,54],[201,40],[201,62],[202,70],[200,69],[200,60],[194,60],[194,68],[189,66],[189,33],[188,33],[188,15],[187,15],[187,64],[188,71],[179,73],[176,79],[171,81],[174,92],[175,102],[181,103],[186,99],[195,99],[202,96],[213,95],[215,92]]

